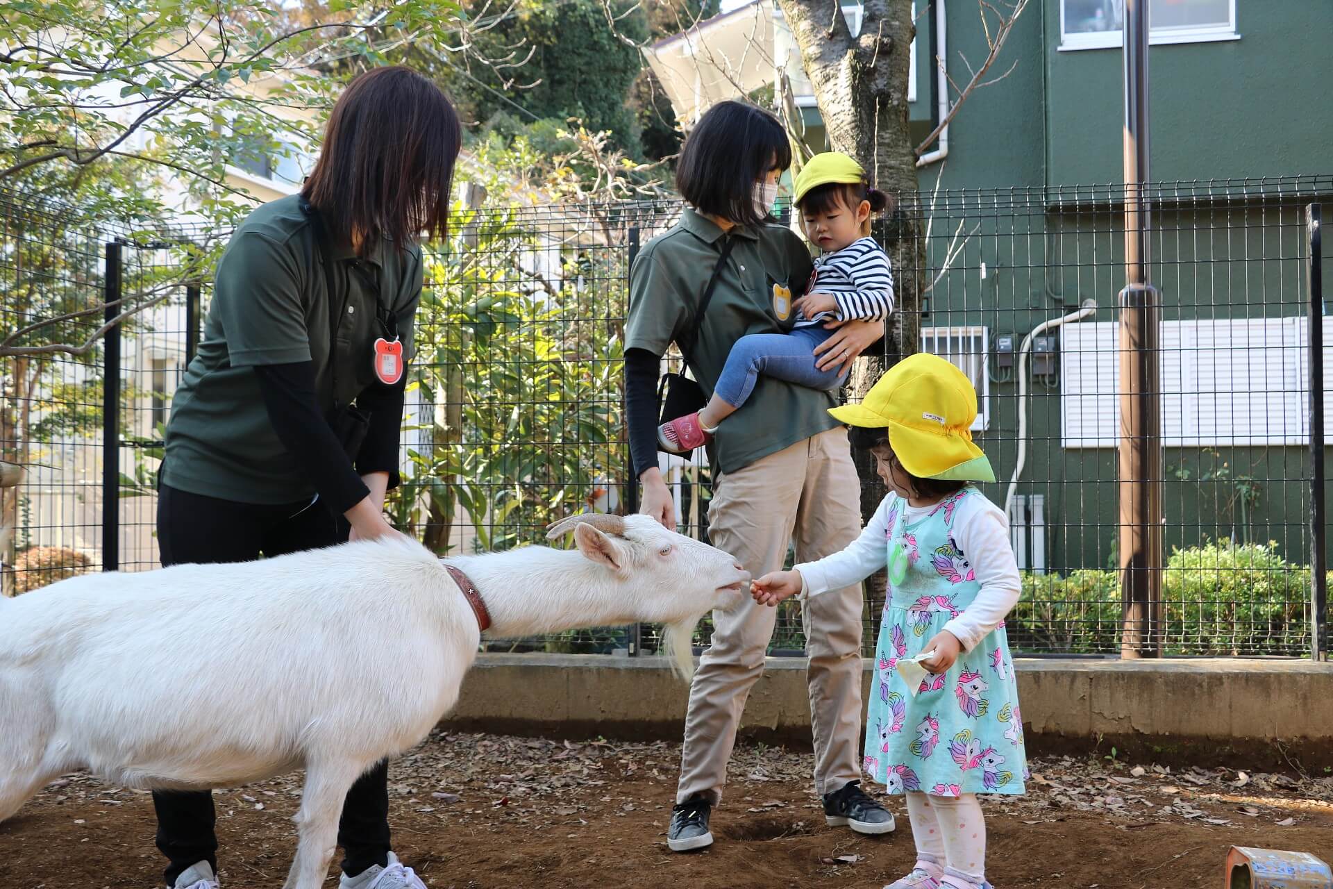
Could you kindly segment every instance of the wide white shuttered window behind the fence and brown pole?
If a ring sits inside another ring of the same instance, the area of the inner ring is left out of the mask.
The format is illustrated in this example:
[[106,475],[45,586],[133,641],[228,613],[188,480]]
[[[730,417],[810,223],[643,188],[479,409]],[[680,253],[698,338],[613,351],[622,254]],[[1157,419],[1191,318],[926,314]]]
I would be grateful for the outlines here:
[[[1060,427],[1065,448],[1120,439],[1120,325],[1061,328]],[[1333,347],[1333,325],[1324,332]],[[1304,317],[1165,321],[1161,431],[1166,448],[1301,445],[1309,439],[1309,335]],[[1325,367],[1325,435],[1333,368]]]

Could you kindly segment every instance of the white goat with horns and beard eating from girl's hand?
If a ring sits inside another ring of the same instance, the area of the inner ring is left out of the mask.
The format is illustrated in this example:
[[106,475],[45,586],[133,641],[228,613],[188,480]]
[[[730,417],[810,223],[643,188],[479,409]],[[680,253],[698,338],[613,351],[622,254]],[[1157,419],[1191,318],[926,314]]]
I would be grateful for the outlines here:
[[[556,522],[577,552],[451,558],[496,636],[666,624],[678,669],[749,574],[647,516]],[[0,598],[0,821],[84,766],[129,788],[225,788],[305,768],[287,889],[319,889],[343,797],[427,736],[476,658],[477,616],[407,540],[233,565],[85,574]]]

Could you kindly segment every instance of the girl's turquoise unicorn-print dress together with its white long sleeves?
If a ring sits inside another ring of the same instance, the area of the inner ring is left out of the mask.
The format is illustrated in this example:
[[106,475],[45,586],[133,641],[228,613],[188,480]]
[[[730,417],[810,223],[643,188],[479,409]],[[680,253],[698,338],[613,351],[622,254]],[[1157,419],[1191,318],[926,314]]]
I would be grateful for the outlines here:
[[[1020,581],[1004,514],[972,486],[924,508],[890,493],[852,546],[797,565],[804,593],[864,580],[885,564],[885,545],[889,588],[865,770],[889,793],[1024,793],[1022,714],[1002,622]],[[926,674],[913,696],[894,665],[942,629],[962,652],[948,673]]]

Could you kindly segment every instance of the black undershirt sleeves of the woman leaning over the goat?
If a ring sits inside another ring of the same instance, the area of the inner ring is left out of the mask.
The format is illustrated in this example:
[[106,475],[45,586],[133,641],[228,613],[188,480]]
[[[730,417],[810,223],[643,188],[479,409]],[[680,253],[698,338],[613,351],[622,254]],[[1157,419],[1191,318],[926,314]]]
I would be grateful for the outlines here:
[[257,365],[255,373],[273,431],[288,453],[299,457],[305,477],[335,513],[347,512],[371,493],[363,474],[388,472],[389,488],[399,484],[405,373],[396,385],[372,385],[357,399],[357,408],[371,420],[355,464],[319,409],[311,361]]

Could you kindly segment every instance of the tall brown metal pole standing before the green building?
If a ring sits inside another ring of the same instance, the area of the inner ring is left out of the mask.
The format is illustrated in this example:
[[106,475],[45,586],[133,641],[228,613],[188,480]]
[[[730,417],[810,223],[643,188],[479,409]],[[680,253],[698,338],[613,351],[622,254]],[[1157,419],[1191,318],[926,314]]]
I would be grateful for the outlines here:
[[1125,0],[1125,289],[1120,292],[1122,658],[1161,657],[1161,303],[1149,283],[1148,1]]

